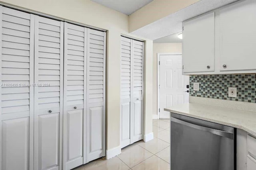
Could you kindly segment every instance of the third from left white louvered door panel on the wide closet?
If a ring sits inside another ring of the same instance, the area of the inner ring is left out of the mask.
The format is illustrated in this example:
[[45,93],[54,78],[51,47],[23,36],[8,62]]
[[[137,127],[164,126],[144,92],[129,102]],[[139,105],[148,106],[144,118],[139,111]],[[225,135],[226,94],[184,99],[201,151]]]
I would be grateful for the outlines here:
[[64,23],[64,170],[80,166],[85,161],[86,42],[87,28]]

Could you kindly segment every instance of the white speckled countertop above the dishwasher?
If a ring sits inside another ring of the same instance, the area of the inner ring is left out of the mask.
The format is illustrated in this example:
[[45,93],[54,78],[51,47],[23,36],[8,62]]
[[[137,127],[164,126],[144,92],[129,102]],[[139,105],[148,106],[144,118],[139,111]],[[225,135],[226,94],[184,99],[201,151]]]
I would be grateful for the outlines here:
[[242,129],[256,136],[256,112],[228,109],[210,105],[188,103],[170,108],[165,111],[194,117],[222,125]]

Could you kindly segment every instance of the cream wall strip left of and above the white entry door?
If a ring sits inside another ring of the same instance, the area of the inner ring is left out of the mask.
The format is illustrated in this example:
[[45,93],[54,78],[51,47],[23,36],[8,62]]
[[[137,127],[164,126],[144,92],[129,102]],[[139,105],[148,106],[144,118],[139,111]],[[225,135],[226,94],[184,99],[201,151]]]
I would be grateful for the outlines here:
[[153,44],[153,118],[157,117],[157,53],[181,53],[182,43],[154,43]]

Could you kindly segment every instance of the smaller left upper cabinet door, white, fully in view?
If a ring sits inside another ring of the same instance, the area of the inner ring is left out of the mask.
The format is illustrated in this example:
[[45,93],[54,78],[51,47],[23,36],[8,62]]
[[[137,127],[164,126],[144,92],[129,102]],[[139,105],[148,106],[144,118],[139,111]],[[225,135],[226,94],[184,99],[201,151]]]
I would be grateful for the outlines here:
[[214,72],[214,12],[183,22],[183,73]]

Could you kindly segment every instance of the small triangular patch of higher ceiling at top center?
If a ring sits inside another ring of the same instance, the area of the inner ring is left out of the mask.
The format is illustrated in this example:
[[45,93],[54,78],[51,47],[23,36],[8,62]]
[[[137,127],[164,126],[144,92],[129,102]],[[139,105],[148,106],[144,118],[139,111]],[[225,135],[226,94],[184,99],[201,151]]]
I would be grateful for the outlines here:
[[130,15],[153,0],[91,0],[113,10]]

